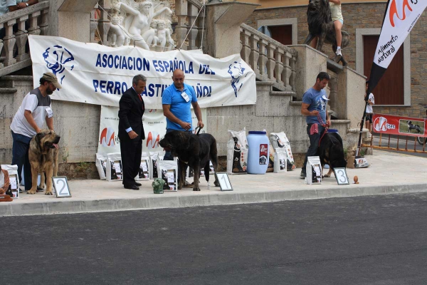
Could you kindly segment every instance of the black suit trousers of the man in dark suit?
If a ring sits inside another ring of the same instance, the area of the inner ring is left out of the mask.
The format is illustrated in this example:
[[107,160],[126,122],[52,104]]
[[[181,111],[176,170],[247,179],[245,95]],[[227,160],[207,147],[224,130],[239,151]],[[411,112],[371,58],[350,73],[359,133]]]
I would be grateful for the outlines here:
[[120,138],[120,152],[122,154],[122,171],[123,171],[123,185],[135,185],[135,177],[138,175],[138,170],[141,165],[142,153],[142,139],[137,136],[131,140],[127,138]]

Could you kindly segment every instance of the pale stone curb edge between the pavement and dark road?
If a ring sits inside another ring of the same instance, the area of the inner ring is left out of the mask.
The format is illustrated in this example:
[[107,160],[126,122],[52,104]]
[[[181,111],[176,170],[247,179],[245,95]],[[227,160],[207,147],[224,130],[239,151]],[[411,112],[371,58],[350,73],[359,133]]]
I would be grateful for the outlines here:
[[175,195],[122,199],[90,199],[78,201],[0,203],[0,217],[38,215],[38,214],[73,214],[85,212],[109,212],[140,209],[161,209],[177,207],[200,207],[226,204],[251,204],[279,202],[297,199],[325,199],[337,197],[358,197],[369,195],[391,195],[427,192],[427,183],[407,185],[379,185],[371,187],[319,190],[278,190],[260,192],[219,192],[207,195]]

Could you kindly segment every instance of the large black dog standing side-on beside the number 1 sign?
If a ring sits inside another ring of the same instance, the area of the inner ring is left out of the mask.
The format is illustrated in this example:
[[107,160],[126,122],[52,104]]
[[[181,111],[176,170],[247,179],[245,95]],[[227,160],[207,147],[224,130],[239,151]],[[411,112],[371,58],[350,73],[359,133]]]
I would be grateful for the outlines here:
[[[194,135],[189,132],[173,130],[164,135],[159,145],[165,150],[170,150],[174,157],[179,158],[179,185],[181,189],[185,181],[185,166],[194,169],[194,187],[193,191],[200,191],[199,178],[200,169],[205,172],[206,181],[209,182],[209,160],[214,165],[214,171],[218,169],[218,151],[216,150],[216,140],[208,133]],[[215,176],[214,185],[219,187],[219,182]]]

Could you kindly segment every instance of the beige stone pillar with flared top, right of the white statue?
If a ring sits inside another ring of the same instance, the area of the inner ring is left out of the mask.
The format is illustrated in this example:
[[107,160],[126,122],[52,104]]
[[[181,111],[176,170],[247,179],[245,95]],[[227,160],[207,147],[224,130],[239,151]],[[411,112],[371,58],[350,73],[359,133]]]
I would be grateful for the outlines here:
[[207,53],[215,58],[240,53],[240,25],[257,6],[243,2],[206,4]]

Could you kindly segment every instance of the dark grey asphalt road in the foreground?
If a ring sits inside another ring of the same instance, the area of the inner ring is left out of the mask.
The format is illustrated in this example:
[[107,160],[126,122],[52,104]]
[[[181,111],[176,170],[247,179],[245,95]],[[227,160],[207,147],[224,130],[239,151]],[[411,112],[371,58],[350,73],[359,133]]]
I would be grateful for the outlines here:
[[427,194],[3,217],[0,284],[426,284]]

